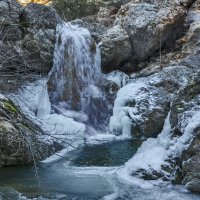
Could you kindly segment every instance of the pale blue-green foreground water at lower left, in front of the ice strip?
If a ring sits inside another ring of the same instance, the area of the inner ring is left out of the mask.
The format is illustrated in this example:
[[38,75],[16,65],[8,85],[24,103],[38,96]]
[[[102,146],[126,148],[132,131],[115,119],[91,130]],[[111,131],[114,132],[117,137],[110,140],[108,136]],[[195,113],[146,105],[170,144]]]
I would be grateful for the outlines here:
[[31,167],[2,168],[0,185],[14,188],[30,198],[43,196],[56,199],[55,196],[62,194],[65,197],[87,200],[99,199],[112,193],[112,188],[105,178],[98,175],[74,174],[64,163],[40,166],[38,171],[39,183]]

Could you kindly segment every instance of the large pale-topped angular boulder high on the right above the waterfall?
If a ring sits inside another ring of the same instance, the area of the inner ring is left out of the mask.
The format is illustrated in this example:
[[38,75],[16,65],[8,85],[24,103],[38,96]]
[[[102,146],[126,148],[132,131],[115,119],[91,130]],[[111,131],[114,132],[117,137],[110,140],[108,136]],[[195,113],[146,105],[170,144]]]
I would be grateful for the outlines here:
[[172,45],[182,31],[185,14],[185,7],[178,5],[129,3],[122,6],[115,24],[121,25],[130,36],[133,63],[142,62],[163,46]]

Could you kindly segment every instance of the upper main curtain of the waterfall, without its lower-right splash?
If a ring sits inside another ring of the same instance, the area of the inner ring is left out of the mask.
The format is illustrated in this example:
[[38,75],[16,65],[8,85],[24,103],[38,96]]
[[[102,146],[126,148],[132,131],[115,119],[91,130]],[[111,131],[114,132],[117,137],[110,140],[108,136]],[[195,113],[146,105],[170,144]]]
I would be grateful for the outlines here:
[[56,32],[51,98],[53,102],[67,101],[69,108],[77,109],[79,105],[81,109],[81,98],[101,76],[100,51],[85,28],[63,22]]

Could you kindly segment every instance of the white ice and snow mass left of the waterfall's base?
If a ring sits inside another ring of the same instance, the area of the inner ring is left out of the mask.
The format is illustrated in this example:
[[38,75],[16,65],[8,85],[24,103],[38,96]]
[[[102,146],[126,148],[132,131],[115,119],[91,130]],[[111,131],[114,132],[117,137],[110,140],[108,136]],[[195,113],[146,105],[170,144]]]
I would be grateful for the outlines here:
[[72,118],[75,116],[75,119],[80,118],[80,121],[87,119],[85,115],[62,110],[62,107],[57,108],[59,114],[50,114],[51,104],[46,82],[46,79],[41,79],[31,83],[12,95],[12,99],[45,131],[46,134],[41,137],[42,141],[50,144],[56,142],[71,150],[83,143],[86,131],[83,123]]

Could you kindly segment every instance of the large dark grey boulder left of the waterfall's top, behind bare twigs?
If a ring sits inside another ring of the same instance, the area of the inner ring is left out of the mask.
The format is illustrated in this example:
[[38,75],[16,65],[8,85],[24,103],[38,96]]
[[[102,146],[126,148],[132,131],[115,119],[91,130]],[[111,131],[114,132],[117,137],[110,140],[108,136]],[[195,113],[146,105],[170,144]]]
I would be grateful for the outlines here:
[[49,72],[59,22],[56,11],[44,5],[22,7],[15,0],[1,1],[0,21],[1,74]]

